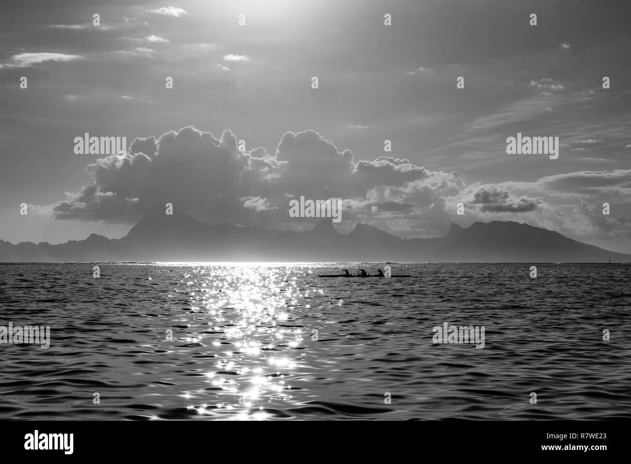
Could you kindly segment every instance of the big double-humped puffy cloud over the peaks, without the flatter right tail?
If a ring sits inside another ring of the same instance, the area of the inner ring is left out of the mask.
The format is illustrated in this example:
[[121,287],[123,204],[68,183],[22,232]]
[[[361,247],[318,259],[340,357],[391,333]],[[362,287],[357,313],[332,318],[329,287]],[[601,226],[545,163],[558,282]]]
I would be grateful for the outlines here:
[[349,220],[380,205],[387,220],[427,208],[458,180],[406,159],[356,161],[315,131],[285,133],[268,155],[264,148],[240,152],[229,130],[215,138],[193,127],[136,138],[128,153],[100,158],[87,172],[93,184],[50,205],[54,217],[133,223],[170,202],[203,220],[273,226],[288,221],[288,198],[305,196],[345,199]]

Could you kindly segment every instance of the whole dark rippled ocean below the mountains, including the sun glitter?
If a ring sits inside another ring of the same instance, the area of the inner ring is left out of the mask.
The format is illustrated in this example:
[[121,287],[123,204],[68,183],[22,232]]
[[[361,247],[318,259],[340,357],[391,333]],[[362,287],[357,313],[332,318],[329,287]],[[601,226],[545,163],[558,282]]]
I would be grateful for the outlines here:
[[0,265],[0,418],[631,419],[631,265],[384,266]]

